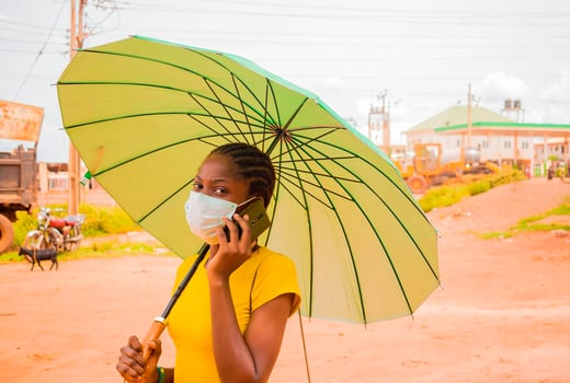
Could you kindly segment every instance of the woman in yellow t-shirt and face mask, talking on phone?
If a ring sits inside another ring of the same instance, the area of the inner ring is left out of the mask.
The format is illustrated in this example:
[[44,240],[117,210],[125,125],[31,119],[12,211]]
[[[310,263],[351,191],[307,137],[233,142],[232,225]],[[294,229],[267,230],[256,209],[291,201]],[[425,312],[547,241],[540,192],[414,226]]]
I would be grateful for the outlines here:
[[[191,230],[207,241],[210,248],[168,318],[176,348],[174,368],[157,367],[161,353],[159,340],[150,341],[151,353],[145,361],[138,338],[132,336],[121,349],[116,365],[125,381],[267,381],[287,318],[300,303],[294,264],[259,246],[239,214],[232,216],[235,221],[220,217],[223,224],[209,232],[196,228],[201,219],[196,216],[252,197],[263,198],[266,207],[274,185],[271,160],[255,147],[229,143],[204,160],[194,179],[186,218]],[[179,267],[174,286],[193,260],[190,257]]]

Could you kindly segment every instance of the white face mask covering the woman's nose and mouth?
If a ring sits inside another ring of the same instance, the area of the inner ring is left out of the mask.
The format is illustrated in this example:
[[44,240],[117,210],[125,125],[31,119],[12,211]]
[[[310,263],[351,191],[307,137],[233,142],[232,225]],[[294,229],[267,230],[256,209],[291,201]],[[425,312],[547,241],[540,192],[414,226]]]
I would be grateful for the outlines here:
[[196,192],[190,192],[184,205],[190,230],[209,245],[219,243],[216,228],[223,228],[225,223],[221,218],[231,219],[237,207],[237,204]]

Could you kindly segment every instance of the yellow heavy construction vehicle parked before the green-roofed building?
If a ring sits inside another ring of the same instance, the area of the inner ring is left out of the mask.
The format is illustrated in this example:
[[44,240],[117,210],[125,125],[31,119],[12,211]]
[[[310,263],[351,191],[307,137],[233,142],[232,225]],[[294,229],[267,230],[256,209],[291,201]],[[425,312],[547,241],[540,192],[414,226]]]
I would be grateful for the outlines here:
[[441,185],[448,178],[464,174],[498,173],[494,163],[481,161],[480,151],[475,148],[446,150],[442,144],[417,143],[409,155],[392,158],[400,174],[413,194],[422,194],[430,186]]

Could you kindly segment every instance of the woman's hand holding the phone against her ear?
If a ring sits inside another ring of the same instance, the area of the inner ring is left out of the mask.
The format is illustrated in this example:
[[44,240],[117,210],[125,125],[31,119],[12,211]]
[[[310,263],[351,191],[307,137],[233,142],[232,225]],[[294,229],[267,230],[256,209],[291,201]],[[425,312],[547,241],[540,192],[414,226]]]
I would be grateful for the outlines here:
[[[217,234],[219,245],[216,253],[212,254],[208,264],[208,277],[229,278],[249,257],[251,257],[254,243],[251,241],[251,228],[247,221],[248,217],[233,214],[233,221],[223,218],[229,232],[229,241],[224,229],[218,228]],[[239,235],[238,225],[241,229]]]

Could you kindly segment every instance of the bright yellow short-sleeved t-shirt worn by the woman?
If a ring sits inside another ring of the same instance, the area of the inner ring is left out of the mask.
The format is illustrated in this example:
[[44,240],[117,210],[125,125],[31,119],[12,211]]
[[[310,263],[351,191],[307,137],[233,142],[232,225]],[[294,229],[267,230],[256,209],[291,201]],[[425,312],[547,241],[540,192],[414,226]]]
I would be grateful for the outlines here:
[[[174,289],[194,260],[195,257],[190,257],[179,267]],[[296,294],[290,314],[300,304],[295,265],[266,247],[259,247],[233,271],[230,290],[241,334],[249,324],[251,312],[272,299],[284,293]],[[209,289],[203,264],[172,309],[168,328],[176,348],[174,382],[219,382],[212,345]]]

